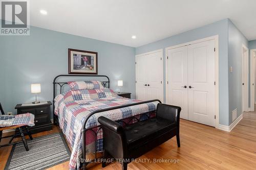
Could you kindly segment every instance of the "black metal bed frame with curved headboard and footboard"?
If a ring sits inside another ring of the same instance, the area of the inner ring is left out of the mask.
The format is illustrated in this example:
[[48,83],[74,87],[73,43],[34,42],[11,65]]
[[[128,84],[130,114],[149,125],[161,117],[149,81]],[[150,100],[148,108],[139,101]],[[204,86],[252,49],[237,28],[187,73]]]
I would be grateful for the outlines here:
[[[101,81],[103,86],[104,87],[108,87],[110,88],[110,79],[108,76],[104,76],[104,75],[58,75],[54,78],[53,80],[53,119],[54,119],[54,124],[55,125],[59,125],[58,123],[58,116],[54,114],[54,99],[55,99],[55,96],[56,96],[56,84],[59,85],[60,87],[60,93],[62,92],[62,86],[65,85],[65,84],[68,84],[68,82],[56,82],[57,78],[59,77],[105,77],[108,79],[108,81]],[[108,85],[108,86],[107,86]],[[146,104],[146,103],[151,103],[151,102],[159,102],[161,103],[160,100],[158,99],[155,99],[155,100],[150,100],[150,101],[143,101],[143,102],[138,102],[138,103],[133,103],[133,104],[127,104],[127,105],[121,105],[121,106],[115,106],[115,107],[110,107],[110,108],[105,108],[105,109],[99,109],[99,110],[96,110],[96,111],[93,111],[91,112],[87,117],[86,119],[84,120],[83,122],[83,125],[82,125],[82,130],[81,130],[81,133],[82,133],[82,160],[81,161],[81,164],[80,164],[80,167],[79,168],[82,168],[83,170],[86,170],[86,166],[89,164],[89,163],[92,163],[92,162],[95,162],[97,158],[97,134],[99,133],[99,131],[101,130],[101,126],[95,126],[95,127],[92,127],[92,128],[86,128],[86,124],[89,120],[89,118],[96,114],[96,113],[99,113],[99,112],[104,112],[104,111],[110,111],[110,110],[114,110],[114,109],[120,109],[120,108],[124,108],[124,107],[129,107],[129,106],[135,106],[135,105],[140,105],[140,104]],[[139,118],[137,117],[141,117],[141,116],[146,116],[147,118],[150,118],[151,115],[155,113],[155,112],[146,112],[146,113],[142,113],[142,114],[139,114],[139,115],[135,115],[135,116],[131,116],[131,117],[126,117],[126,118],[123,118],[123,119],[120,119],[118,120],[117,122],[119,123],[123,123],[123,124],[129,124],[131,122],[131,120],[133,119],[136,119],[138,122],[140,121]],[[124,121],[126,120],[126,121]],[[95,132],[94,129],[95,128],[98,128],[99,129]],[[86,161],[87,158],[86,158],[86,132],[87,131],[92,131],[94,134],[95,134],[95,158],[94,160],[91,159],[90,161]]]

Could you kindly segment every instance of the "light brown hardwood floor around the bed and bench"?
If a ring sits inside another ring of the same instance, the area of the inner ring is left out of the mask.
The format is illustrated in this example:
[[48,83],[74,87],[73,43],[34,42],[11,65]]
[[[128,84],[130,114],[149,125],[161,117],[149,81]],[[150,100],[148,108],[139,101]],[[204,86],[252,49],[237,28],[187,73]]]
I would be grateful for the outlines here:
[[[128,169],[255,169],[256,112],[244,113],[243,117],[231,132],[182,119],[180,148],[177,148],[176,138],[173,138],[141,156],[151,161],[179,159],[179,163],[129,163]],[[34,134],[33,137],[58,131],[58,127],[54,126],[52,131]],[[4,169],[10,151],[11,147],[0,148],[0,170]],[[68,169],[68,164],[65,162],[49,169]],[[101,168],[101,164],[96,164],[90,169],[121,169],[121,165],[111,163]]]

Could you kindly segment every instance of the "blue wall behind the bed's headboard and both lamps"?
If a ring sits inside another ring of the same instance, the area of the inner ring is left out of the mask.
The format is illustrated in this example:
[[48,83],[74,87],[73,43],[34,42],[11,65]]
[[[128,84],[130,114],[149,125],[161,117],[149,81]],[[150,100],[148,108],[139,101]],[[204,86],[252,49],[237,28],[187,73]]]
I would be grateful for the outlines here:
[[123,80],[123,91],[135,98],[135,48],[31,27],[30,36],[0,37],[0,102],[16,113],[32,102],[31,83],[41,83],[40,101],[52,101],[53,78],[68,74],[68,48],[98,52],[98,74],[110,77],[111,88]]

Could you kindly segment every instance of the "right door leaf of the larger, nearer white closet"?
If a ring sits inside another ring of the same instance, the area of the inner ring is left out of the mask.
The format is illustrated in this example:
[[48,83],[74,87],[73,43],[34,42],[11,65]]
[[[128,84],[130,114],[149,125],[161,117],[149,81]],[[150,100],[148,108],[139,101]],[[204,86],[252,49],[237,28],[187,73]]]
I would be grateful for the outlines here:
[[215,126],[215,40],[188,45],[188,120]]

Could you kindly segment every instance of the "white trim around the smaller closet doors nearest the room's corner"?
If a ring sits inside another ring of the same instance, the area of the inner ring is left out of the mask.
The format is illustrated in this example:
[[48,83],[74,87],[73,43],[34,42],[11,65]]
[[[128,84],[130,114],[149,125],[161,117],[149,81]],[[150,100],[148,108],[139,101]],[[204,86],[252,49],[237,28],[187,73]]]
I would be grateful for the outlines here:
[[[161,74],[159,75],[161,80],[162,80],[162,85],[161,85],[161,99],[159,99],[162,103],[163,103],[163,84],[164,84],[164,81],[163,81],[163,49],[159,49],[159,50],[155,50],[155,51],[151,51],[151,52],[147,52],[147,53],[143,53],[143,54],[138,54],[138,55],[135,55],[135,62],[137,61],[137,57],[140,57],[140,56],[145,56],[145,55],[150,55],[150,54],[154,54],[154,53],[161,53]],[[135,63],[136,64],[136,63]],[[137,69],[136,69],[136,81],[137,81]],[[136,83],[136,82],[135,82]],[[137,99],[137,91],[138,91],[138,84],[136,83],[136,99]]]

